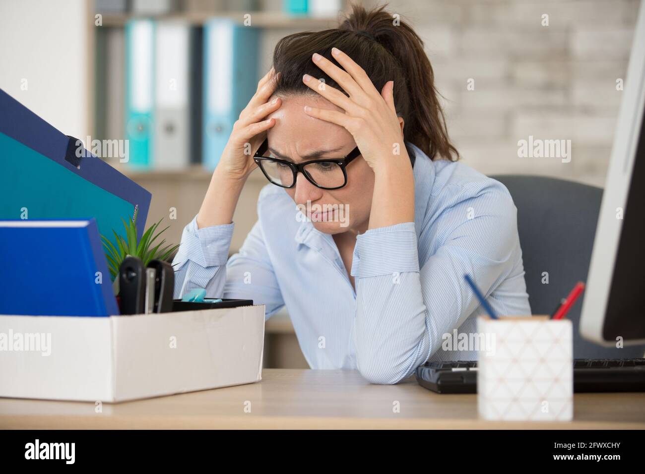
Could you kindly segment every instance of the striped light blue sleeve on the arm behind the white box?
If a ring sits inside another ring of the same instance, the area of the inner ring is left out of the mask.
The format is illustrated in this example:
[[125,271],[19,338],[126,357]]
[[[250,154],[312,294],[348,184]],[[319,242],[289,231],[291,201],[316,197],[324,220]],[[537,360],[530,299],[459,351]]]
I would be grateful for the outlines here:
[[239,253],[228,259],[233,225],[197,228],[197,217],[184,228],[175,268],[175,299],[195,288],[210,298],[252,299],[266,305],[266,317],[284,306],[273,266],[255,222]]

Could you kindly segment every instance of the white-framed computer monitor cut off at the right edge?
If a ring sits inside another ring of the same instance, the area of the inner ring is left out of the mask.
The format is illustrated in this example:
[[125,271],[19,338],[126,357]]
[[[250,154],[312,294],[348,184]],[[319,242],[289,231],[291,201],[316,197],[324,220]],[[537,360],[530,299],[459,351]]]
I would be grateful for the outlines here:
[[582,337],[645,343],[645,6],[640,6],[584,292]]

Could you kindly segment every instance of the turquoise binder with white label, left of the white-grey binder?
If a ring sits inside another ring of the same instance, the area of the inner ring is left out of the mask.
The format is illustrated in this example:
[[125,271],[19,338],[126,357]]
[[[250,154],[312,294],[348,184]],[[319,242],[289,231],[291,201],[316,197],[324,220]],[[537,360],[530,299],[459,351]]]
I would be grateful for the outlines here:
[[126,139],[132,168],[146,169],[154,152],[154,34],[150,19],[128,21],[126,34]]

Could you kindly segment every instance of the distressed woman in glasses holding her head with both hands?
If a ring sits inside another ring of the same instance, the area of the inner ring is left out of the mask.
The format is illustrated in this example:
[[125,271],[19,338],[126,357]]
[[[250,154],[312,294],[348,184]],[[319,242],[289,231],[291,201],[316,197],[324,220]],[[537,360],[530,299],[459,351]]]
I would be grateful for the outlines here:
[[[175,258],[175,297],[206,288],[267,317],[286,305],[312,368],[381,384],[429,358],[476,359],[442,349],[484,313],[466,273],[497,313],[530,314],[513,201],[457,163],[422,41],[393,23],[354,7],[338,29],[277,44]],[[257,166],[273,184],[227,262]]]

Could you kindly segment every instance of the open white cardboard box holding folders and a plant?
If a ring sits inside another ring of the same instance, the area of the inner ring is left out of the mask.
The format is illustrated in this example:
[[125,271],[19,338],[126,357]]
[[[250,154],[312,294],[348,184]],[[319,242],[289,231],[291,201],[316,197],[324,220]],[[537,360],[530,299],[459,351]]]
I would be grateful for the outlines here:
[[123,402],[248,384],[262,379],[263,344],[264,305],[0,315],[0,397]]

